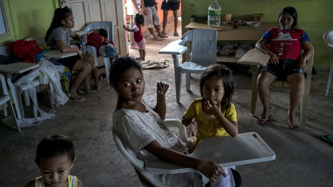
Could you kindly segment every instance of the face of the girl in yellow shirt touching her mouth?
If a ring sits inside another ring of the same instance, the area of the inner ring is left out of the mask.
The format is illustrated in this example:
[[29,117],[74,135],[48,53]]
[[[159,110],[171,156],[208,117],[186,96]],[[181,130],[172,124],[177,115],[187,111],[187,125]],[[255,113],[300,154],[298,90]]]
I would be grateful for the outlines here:
[[209,101],[210,97],[212,98],[212,104],[217,104],[218,101],[221,101],[224,96],[224,85],[223,81],[218,76],[208,77],[202,88],[203,97],[206,101]]

